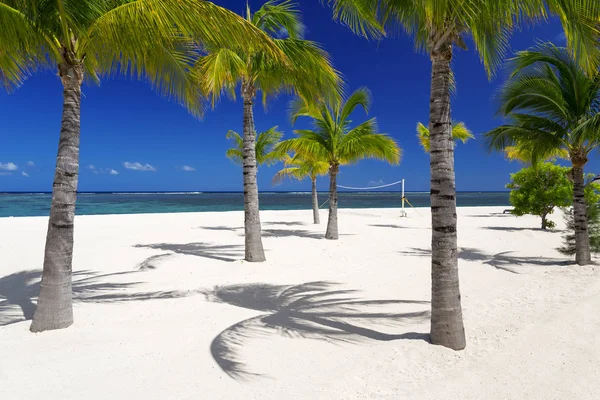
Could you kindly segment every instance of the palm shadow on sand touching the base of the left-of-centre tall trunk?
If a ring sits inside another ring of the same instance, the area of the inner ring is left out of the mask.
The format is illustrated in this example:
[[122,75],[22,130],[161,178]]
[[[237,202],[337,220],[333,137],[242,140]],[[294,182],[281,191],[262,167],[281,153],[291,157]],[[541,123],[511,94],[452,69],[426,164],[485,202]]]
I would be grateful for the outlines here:
[[[184,254],[188,256],[204,257],[219,261],[238,261],[244,258],[244,251],[239,245],[214,245],[204,242],[193,243],[153,243],[153,244],[136,244],[133,247],[147,248],[162,251],[170,251],[175,254]],[[138,265],[140,269],[144,269],[144,264],[148,261],[156,262],[156,258],[168,256],[169,253],[152,256]],[[145,268],[148,269],[148,268]]]

